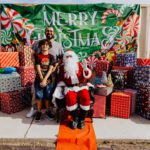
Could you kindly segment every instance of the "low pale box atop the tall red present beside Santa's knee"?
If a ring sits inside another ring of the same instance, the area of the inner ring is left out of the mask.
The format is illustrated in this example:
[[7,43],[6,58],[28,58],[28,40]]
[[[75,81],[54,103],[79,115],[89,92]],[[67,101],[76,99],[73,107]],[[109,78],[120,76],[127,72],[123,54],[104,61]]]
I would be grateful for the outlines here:
[[107,96],[113,92],[113,87],[100,87],[95,89],[96,95]]

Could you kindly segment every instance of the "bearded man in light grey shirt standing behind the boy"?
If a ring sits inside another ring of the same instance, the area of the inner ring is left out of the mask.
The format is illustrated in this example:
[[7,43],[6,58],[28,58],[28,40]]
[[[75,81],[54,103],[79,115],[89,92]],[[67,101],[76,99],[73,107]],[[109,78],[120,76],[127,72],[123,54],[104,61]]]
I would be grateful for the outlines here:
[[[58,42],[56,42],[54,40],[55,37],[55,32],[54,32],[54,28],[51,26],[46,27],[45,29],[45,36],[46,39],[48,39],[51,43],[52,43],[52,47],[49,49],[49,53],[51,55],[54,56],[55,61],[57,62],[54,69],[53,69],[53,77],[55,77],[55,83],[56,83],[56,70],[57,67],[59,65],[59,62],[61,61],[62,57],[63,57],[63,48],[61,46],[61,44],[59,44]],[[32,60],[33,62],[35,62],[34,60],[34,54],[35,53],[40,53],[41,49],[39,47],[39,42],[37,41],[36,43],[33,44],[32,49],[33,49],[33,53],[32,53]],[[33,94],[33,98],[32,98],[32,107],[29,113],[27,113],[26,117],[30,118],[32,117],[34,114],[36,113],[36,103],[35,103],[35,98],[34,98],[34,94]]]

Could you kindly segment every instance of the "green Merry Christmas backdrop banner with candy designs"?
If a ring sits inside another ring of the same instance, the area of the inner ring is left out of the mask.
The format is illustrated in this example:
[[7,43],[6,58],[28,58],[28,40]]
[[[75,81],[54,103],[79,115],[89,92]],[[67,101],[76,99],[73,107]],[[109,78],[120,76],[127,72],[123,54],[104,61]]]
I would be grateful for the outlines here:
[[1,4],[0,8],[1,46],[5,49],[33,44],[44,38],[46,26],[53,26],[56,40],[64,50],[73,49],[80,60],[96,53],[111,60],[116,52],[137,50],[140,5]]

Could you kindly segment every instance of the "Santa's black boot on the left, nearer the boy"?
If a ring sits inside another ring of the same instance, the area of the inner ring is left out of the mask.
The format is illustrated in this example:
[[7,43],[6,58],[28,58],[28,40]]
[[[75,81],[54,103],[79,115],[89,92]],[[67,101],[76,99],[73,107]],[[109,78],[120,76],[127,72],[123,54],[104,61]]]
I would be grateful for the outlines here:
[[77,110],[73,110],[70,112],[72,116],[72,121],[70,122],[70,128],[71,129],[76,129],[78,126],[78,112]]

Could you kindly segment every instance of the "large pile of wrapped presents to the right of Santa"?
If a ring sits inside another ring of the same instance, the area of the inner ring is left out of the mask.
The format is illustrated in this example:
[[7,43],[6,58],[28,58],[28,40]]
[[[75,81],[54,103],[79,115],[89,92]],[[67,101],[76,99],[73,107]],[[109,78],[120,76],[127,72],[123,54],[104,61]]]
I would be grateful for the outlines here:
[[136,113],[150,119],[150,59],[135,53],[116,54],[115,63],[98,59],[93,66],[93,117],[129,118]]

